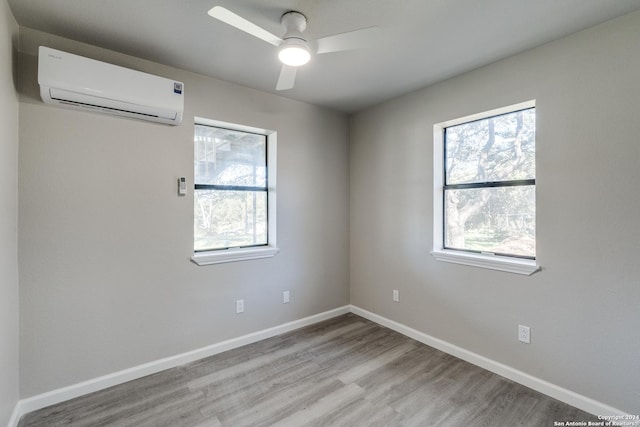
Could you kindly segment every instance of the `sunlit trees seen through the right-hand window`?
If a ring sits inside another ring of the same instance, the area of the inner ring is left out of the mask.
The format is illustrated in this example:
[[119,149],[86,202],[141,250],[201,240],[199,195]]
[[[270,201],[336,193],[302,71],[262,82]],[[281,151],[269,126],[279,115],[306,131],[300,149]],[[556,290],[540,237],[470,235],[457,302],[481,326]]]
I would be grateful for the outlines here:
[[[535,109],[446,129],[448,185],[535,179]],[[535,256],[535,186],[446,191],[445,245]]]

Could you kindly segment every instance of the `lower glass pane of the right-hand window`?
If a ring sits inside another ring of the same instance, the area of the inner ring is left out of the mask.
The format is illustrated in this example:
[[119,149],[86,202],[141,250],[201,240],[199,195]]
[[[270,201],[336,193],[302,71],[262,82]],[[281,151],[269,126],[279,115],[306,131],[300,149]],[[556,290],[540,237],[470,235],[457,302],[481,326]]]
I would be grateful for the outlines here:
[[445,191],[445,248],[535,257],[535,186]]

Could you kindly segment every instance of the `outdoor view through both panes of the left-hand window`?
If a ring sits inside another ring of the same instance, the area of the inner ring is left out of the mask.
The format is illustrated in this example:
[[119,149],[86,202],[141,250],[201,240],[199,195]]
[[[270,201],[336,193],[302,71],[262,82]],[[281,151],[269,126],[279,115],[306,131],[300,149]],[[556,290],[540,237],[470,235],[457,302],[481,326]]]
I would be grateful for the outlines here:
[[218,186],[195,191],[195,250],[266,244],[266,137],[197,125],[194,144],[196,184]]

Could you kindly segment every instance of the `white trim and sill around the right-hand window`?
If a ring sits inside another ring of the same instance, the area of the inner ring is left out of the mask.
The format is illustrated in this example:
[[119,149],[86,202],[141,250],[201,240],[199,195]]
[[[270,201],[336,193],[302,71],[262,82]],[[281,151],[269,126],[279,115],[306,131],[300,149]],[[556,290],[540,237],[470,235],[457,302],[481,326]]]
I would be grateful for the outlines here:
[[490,270],[505,271],[530,276],[540,270],[536,260],[498,256],[493,254],[475,254],[471,252],[444,249],[443,242],[443,186],[444,186],[444,129],[490,116],[524,110],[536,106],[535,100],[521,102],[483,113],[472,114],[454,120],[433,125],[433,250],[431,255],[438,260]]

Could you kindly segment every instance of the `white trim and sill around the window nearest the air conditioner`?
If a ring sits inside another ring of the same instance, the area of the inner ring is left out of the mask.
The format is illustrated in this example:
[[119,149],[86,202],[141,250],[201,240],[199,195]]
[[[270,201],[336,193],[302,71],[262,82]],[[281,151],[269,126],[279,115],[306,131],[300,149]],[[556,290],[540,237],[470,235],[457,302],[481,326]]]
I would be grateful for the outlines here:
[[[234,129],[243,132],[251,132],[265,135],[267,137],[267,168],[269,173],[267,206],[268,206],[268,243],[265,246],[254,246],[248,248],[229,248],[212,251],[194,252],[191,261],[197,265],[212,265],[226,262],[247,261],[252,259],[271,258],[280,250],[276,245],[276,158],[278,135],[276,131],[254,128],[250,126],[237,125],[234,123],[211,120],[202,117],[195,117],[196,124],[207,126]],[[195,196],[194,196],[195,197]]]

